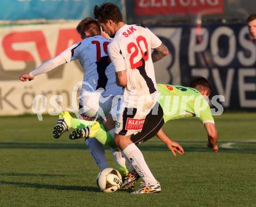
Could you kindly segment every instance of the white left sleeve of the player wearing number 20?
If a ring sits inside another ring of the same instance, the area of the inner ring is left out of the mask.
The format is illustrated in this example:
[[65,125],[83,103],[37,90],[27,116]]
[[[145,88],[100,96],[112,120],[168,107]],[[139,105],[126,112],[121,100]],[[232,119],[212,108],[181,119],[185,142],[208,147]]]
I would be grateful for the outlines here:
[[126,70],[125,59],[122,56],[120,48],[114,44],[114,42],[111,42],[108,45],[108,55],[112,61],[113,66],[115,67],[116,72]]

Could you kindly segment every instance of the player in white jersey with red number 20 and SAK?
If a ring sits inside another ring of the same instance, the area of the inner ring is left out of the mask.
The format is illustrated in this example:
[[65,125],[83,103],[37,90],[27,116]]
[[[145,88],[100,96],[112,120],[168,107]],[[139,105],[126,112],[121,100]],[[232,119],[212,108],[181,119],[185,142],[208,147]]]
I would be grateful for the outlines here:
[[[102,30],[113,38],[108,45],[109,57],[115,66],[116,83],[125,87],[123,100],[118,103],[120,110],[116,116],[115,143],[144,180],[143,186],[133,194],[160,192],[160,184],[130,138],[141,132],[146,115],[157,101],[153,62],[168,55],[169,51],[148,28],[125,24],[120,9],[113,3],[95,6],[94,15]],[[152,54],[151,48],[154,49]],[[106,128],[111,129],[109,123],[105,123]],[[123,188],[133,177],[127,176]]]

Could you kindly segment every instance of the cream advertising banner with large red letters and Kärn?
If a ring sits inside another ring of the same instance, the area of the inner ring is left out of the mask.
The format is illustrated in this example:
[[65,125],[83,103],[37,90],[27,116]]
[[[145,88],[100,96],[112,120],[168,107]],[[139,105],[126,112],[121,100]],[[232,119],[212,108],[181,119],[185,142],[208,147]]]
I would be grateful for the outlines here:
[[0,28],[0,116],[34,112],[34,97],[41,95],[45,96],[42,112],[54,108],[55,95],[63,97],[62,110],[73,108],[72,90],[83,79],[79,62],[63,64],[34,81],[21,82],[19,76],[81,41],[76,26],[77,22]]

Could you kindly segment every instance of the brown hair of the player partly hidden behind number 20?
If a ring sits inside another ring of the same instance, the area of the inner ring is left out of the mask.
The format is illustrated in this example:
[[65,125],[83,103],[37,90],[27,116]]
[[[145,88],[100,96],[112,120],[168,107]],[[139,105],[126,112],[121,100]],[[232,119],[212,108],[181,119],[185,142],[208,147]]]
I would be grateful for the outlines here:
[[76,27],[76,31],[81,35],[81,38],[86,38],[84,32],[88,31],[90,35],[99,35],[101,34],[101,26],[97,20],[86,17],[80,21],[80,23]]

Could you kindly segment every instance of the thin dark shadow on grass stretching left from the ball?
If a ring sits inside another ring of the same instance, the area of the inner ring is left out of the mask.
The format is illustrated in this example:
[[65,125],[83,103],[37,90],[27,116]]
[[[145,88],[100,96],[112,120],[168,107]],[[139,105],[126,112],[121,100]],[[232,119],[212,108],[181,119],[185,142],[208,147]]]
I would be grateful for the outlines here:
[[0,180],[0,184],[9,184],[9,185],[19,186],[19,187],[40,188],[40,189],[100,192],[97,187],[90,187],[90,186],[58,186],[58,185],[49,185],[49,184],[41,184],[41,183],[23,183],[23,182],[13,182],[13,181],[3,181],[3,180]]

